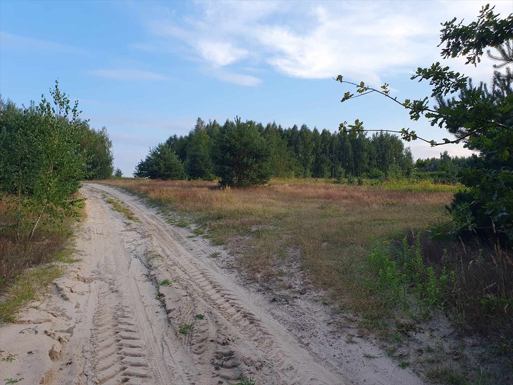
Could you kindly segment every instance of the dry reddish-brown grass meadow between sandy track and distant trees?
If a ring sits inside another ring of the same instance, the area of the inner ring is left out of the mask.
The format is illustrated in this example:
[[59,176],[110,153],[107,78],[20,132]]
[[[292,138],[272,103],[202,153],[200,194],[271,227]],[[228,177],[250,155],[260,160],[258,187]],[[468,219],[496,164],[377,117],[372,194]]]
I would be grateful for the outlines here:
[[273,278],[295,250],[314,283],[344,292],[353,281],[346,274],[348,263],[362,258],[374,241],[436,221],[452,197],[450,192],[305,180],[274,180],[269,186],[231,190],[203,181],[105,183],[191,215],[209,229],[215,243],[235,246],[239,263],[260,282]]

